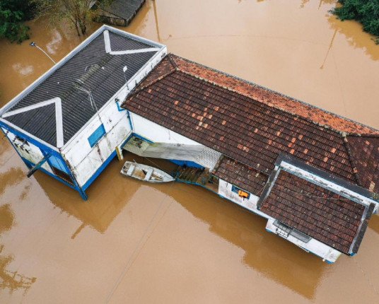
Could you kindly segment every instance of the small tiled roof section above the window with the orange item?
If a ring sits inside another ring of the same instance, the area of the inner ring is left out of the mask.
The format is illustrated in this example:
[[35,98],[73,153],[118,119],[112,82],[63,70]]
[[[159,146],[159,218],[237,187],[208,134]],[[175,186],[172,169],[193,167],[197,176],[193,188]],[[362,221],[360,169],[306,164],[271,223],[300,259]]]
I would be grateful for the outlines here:
[[222,158],[214,175],[257,196],[262,194],[264,185],[269,178],[268,175],[228,157]]

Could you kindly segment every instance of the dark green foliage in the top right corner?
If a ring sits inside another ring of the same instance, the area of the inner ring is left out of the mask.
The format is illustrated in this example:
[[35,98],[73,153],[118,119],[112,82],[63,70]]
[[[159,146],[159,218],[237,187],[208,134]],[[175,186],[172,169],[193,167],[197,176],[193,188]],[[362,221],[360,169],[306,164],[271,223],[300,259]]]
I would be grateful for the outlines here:
[[379,0],[339,0],[341,7],[333,13],[342,21],[356,20],[362,23],[363,30],[378,38],[379,43]]

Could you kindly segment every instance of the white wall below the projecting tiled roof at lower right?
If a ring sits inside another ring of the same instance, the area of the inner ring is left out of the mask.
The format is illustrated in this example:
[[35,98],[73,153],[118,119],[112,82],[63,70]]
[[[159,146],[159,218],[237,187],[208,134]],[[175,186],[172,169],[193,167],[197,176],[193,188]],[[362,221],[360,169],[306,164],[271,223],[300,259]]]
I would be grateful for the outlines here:
[[[269,221],[267,221],[266,229],[277,235],[277,227],[274,225],[274,221],[274,218],[269,218]],[[330,247],[324,244],[323,242],[319,242],[314,238],[311,238],[309,242],[303,242],[302,240],[293,237],[293,235],[288,235],[288,238],[286,238],[285,240],[288,240],[288,242],[292,242],[293,244],[295,244],[298,247],[301,247],[301,249],[307,252],[312,252],[313,254],[322,257],[322,259],[327,260],[328,262],[334,263],[337,261],[339,256],[342,255],[342,253],[338,250],[335,250],[333,247]]]

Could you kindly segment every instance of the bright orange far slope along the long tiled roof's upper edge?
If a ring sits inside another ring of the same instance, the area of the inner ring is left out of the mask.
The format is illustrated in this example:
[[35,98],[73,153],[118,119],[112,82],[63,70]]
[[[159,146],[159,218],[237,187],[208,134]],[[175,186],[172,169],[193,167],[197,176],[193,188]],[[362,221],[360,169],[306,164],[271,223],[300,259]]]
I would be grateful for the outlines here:
[[[315,105],[311,105],[310,103],[305,103],[304,101],[302,101],[302,100],[298,100],[298,99],[296,99],[296,98],[293,98],[293,97],[291,97],[291,96],[289,96],[289,95],[286,95],[286,94],[283,94],[283,93],[280,93],[280,92],[277,92],[276,90],[272,90],[272,89],[270,89],[270,88],[266,88],[266,87],[264,87],[264,86],[260,86],[259,84],[257,84],[257,83],[254,83],[254,82],[252,82],[252,81],[247,81],[247,80],[245,80],[245,79],[243,79],[243,78],[240,78],[240,77],[238,77],[238,76],[234,76],[234,75],[232,75],[232,74],[228,74],[228,73],[226,73],[226,72],[224,72],[224,71],[220,71],[220,70],[218,70],[218,69],[214,69],[214,68],[211,68],[211,67],[209,67],[209,66],[205,66],[204,64],[199,64],[198,62],[194,62],[194,61],[192,61],[192,60],[190,60],[190,59],[186,59],[186,58],[183,58],[183,57],[180,57],[180,56],[177,56],[177,55],[175,55],[175,54],[171,54],[174,58],[174,60],[175,60],[175,57],[177,58],[177,59],[180,59],[180,60],[183,60],[183,61],[185,61],[185,62],[189,62],[190,64],[194,64],[194,65],[196,65],[196,66],[199,66],[199,67],[201,67],[201,68],[204,68],[204,69],[207,69],[207,70],[209,70],[209,71],[213,71],[213,72],[215,72],[215,73],[219,73],[219,74],[223,74],[223,75],[225,75],[225,76],[228,76],[228,77],[230,77],[230,78],[233,78],[233,79],[235,79],[236,81],[241,81],[242,83],[245,83],[246,85],[248,85],[248,86],[253,86],[253,87],[255,87],[255,88],[260,88],[260,89],[262,89],[262,90],[266,90],[267,92],[269,92],[269,93],[274,93],[275,95],[279,95],[279,96],[281,96],[281,97],[284,97],[284,98],[288,98],[289,100],[291,100],[291,101],[293,101],[293,102],[295,102],[295,103],[298,103],[298,104],[300,104],[300,105],[303,105],[304,107],[310,107],[311,109],[310,110],[312,110],[312,109],[314,109],[314,110],[319,110],[319,111],[322,111],[322,112],[325,112],[327,115],[331,115],[331,116],[333,116],[333,117],[338,117],[339,119],[344,119],[346,122],[349,122],[349,123],[351,123],[351,124],[355,124],[356,126],[358,126],[358,127],[363,127],[363,128],[366,128],[366,129],[369,129],[369,130],[371,130],[371,131],[373,131],[373,134],[372,135],[378,135],[379,136],[379,130],[378,129],[375,129],[375,128],[373,128],[373,127],[370,127],[370,126],[367,126],[367,125],[365,125],[365,124],[362,124],[361,122],[356,122],[356,121],[354,121],[353,119],[349,119],[349,118],[347,118],[347,117],[343,117],[342,115],[338,115],[338,114],[336,114],[336,113],[333,113],[333,112],[330,112],[330,111],[327,111],[327,110],[325,110],[325,109],[322,109],[321,107],[317,107],[317,106],[315,106]],[[176,62],[175,62],[176,63]],[[178,64],[178,66],[179,66],[179,69],[181,70],[181,71],[183,71],[183,69],[180,67],[180,64]],[[251,99],[253,99],[253,100],[255,100],[254,98],[252,98],[250,95],[247,95],[246,93],[243,93],[243,92],[241,92],[241,91],[239,91],[239,90],[233,90],[232,88],[230,88],[230,87],[226,87],[226,86],[221,86],[221,85],[219,85],[218,83],[215,83],[214,81],[209,81],[209,79],[206,79],[206,78],[202,78],[201,76],[198,76],[198,75],[196,75],[196,74],[192,74],[191,72],[189,72],[189,71],[187,71],[187,74],[189,74],[189,75],[192,75],[192,76],[195,76],[195,77],[197,77],[197,78],[200,78],[200,79],[203,79],[203,80],[205,80],[205,81],[208,81],[208,82],[210,82],[210,83],[214,83],[216,86],[220,86],[221,88],[226,88],[226,89],[228,89],[228,90],[231,90],[231,91],[233,91],[233,92],[235,92],[235,93],[238,93],[238,94],[240,94],[240,95],[244,95],[244,96],[246,96],[246,97],[248,97],[248,98],[251,98]],[[318,126],[320,126],[320,127],[325,127],[325,128],[327,128],[327,129],[332,129],[333,131],[336,131],[336,132],[338,132],[339,134],[342,134],[343,136],[345,136],[346,134],[351,134],[351,135],[371,135],[371,134],[367,134],[367,133],[355,133],[355,132],[347,132],[347,131],[342,131],[342,130],[340,130],[340,129],[336,129],[335,127],[332,127],[332,125],[330,125],[330,124],[322,124],[321,122],[316,122],[315,120],[313,120],[313,119],[311,119],[311,118],[309,118],[309,117],[305,117],[305,116],[303,116],[303,115],[299,115],[298,113],[294,113],[294,112],[291,112],[291,111],[289,111],[289,110],[285,110],[283,107],[280,107],[279,105],[276,105],[276,104],[274,104],[274,103],[268,103],[267,101],[265,101],[265,100],[256,100],[256,101],[259,101],[260,103],[264,103],[264,104],[266,104],[266,105],[269,105],[270,107],[276,107],[277,109],[279,109],[279,110],[282,110],[282,111],[284,111],[284,112],[287,112],[287,113],[289,113],[289,114],[291,114],[291,115],[295,115],[296,117],[302,117],[302,118],[304,118],[304,119],[307,119],[309,122],[313,122],[314,124],[316,124],[316,125],[318,125]],[[358,132],[358,130],[356,130],[356,132]]]

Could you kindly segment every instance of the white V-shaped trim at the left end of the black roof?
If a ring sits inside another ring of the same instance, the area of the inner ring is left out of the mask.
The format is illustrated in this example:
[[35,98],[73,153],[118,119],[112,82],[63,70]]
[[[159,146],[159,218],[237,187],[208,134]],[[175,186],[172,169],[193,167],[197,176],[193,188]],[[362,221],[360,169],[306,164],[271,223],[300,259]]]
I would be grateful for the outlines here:
[[62,100],[59,97],[52,98],[49,100],[42,101],[42,103],[36,103],[35,105],[28,105],[28,107],[22,107],[21,109],[13,110],[4,113],[2,117],[9,117],[17,115],[23,112],[28,112],[30,110],[35,110],[39,107],[45,107],[46,105],[55,104],[55,120],[57,127],[57,148],[62,148],[64,145],[63,141],[63,120],[62,120]]

